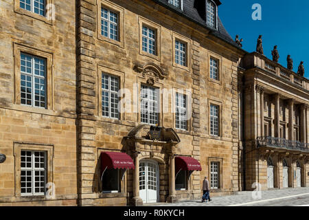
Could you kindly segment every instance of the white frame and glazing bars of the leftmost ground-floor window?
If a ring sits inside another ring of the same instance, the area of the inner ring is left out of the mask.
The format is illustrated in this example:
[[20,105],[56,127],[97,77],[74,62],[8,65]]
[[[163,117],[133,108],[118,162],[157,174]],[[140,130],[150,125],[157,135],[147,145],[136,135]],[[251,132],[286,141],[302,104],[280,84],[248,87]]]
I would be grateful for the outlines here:
[[[45,195],[46,192],[46,182],[47,182],[47,153],[45,151],[28,151],[28,150],[22,150],[25,151],[25,153],[27,152],[31,152],[31,168],[27,168],[27,167],[23,167],[21,166],[21,172],[22,171],[31,171],[31,188],[32,188],[32,192],[21,192],[21,196],[33,196],[33,195]],[[22,152],[21,151],[21,152]],[[35,153],[44,153],[44,168],[36,168],[35,167]],[[21,162],[22,163],[22,162]],[[44,192],[35,192],[35,172],[36,171],[44,171]],[[27,181],[26,181],[27,182]],[[27,187],[26,187],[27,189]]]

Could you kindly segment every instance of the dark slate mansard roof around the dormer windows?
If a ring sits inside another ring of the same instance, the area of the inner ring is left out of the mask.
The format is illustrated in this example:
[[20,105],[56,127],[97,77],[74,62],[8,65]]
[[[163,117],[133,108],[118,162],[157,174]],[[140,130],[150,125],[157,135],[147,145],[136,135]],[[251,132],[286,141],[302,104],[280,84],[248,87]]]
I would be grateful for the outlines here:
[[[198,23],[198,25],[201,25],[204,28],[211,30],[210,34],[213,34],[219,39],[222,39],[223,41],[240,48],[238,44],[235,43],[235,41],[231,38],[231,36],[223,26],[219,17],[218,17],[218,30],[211,28],[206,24],[205,0],[183,0],[183,10],[181,10],[180,8],[175,8],[173,5],[168,3],[168,0],[152,0],[152,1],[155,1],[160,5],[163,5],[163,7],[168,8],[169,10],[172,10],[173,12],[176,12],[177,14],[180,14],[181,16],[186,17],[187,19],[195,23]],[[221,4],[220,0],[214,0],[214,2],[217,5]]]

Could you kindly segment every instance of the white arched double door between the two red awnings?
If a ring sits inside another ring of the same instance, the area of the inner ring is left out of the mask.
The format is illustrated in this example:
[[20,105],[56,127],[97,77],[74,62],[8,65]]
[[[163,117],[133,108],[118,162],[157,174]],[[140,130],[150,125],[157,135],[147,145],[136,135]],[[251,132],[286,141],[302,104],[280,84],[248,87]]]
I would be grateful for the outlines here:
[[155,203],[159,198],[159,166],[152,160],[139,162],[139,197],[144,203]]

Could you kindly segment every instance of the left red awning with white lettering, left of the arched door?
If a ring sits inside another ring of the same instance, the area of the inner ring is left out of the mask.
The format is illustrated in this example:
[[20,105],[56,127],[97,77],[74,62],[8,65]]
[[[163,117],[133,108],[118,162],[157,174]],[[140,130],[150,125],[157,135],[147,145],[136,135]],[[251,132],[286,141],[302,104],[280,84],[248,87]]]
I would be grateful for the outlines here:
[[135,169],[133,159],[126,153],[102,152],[102,171],[107,169]]

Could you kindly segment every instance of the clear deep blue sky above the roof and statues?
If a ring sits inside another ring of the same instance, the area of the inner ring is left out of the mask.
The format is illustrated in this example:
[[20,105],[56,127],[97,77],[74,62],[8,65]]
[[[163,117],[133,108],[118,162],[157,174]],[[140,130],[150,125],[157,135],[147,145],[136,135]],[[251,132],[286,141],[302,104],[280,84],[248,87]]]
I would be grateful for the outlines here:
[[[286,67],[288,54],[293,58],[294,72],[304,61],[305,76],[309,78],[309,1],[308,0],[221,0],[219,16],[235,39],[244,39],[242,48],[253,52],[260,34],[263,35],[264,55],[272,59],[271,50],[278,46],[279,63]],[[252,5],[262,6],[262,21],[253,21]]]

